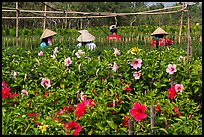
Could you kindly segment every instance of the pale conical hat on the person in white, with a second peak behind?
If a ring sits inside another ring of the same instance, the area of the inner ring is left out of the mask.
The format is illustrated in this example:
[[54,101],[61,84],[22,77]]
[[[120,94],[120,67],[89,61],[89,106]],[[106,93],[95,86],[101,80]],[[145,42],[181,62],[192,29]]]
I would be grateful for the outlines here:
[[95,40],[95,37],[91,35],[87,30],[79,31],[81,35],[77,38],[79,42],[90,42]]

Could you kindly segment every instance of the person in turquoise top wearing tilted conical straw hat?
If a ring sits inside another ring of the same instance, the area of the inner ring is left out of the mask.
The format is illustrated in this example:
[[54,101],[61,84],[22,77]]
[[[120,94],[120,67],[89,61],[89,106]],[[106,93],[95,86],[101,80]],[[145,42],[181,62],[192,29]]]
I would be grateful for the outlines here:
[[45,29],[40,37],[40,39],[42,40],[40,49],[44,49],[47,45],[52,45],[52,36],[56,34],[57,33],[52,30]]

